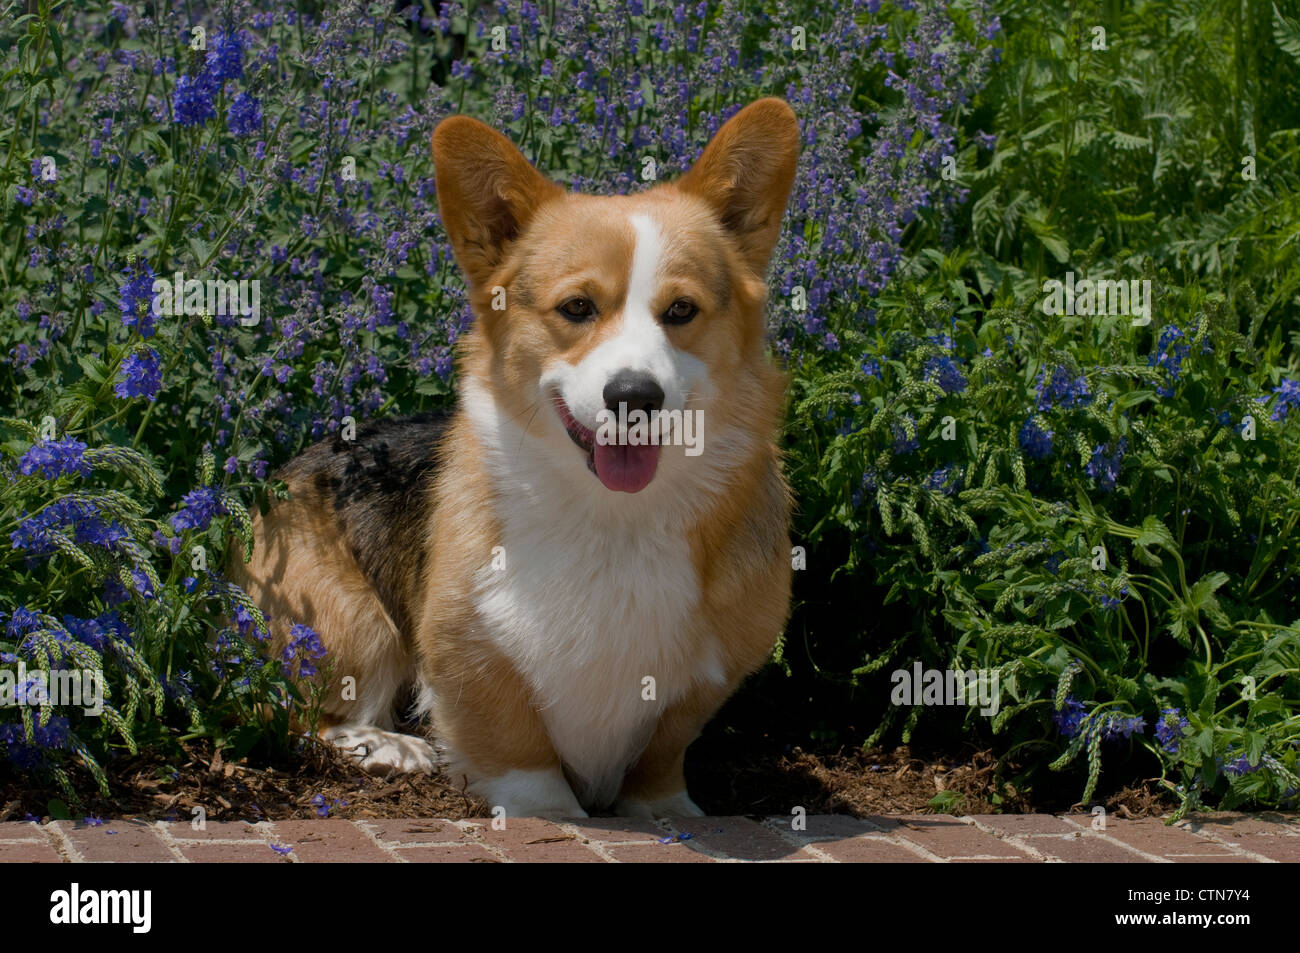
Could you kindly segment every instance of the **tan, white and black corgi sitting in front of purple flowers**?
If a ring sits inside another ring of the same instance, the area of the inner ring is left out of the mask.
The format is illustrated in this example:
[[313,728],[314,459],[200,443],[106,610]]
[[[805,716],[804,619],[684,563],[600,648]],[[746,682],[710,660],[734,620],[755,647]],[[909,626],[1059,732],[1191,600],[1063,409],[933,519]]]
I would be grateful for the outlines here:
[[[789,615],[764,273],[798,139],[762,99],[677,181],[593,196],[437,125],[476,317],[456,408],[304,451],[230,566],[276,657],[294,623],[326,646],[324,740],[508,815],[703,814],[686,746]],[[394,731],[403,699],[433,744]]]

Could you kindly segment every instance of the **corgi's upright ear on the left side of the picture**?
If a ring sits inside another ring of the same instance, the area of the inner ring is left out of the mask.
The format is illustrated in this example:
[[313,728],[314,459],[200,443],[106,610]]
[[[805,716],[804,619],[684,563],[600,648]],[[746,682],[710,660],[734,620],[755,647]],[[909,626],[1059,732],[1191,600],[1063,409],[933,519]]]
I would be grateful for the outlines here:
[[433,130],[433,164],[442,225],[474,287],[486,283],[537,209],[564,195],[510,139],[468,116]]

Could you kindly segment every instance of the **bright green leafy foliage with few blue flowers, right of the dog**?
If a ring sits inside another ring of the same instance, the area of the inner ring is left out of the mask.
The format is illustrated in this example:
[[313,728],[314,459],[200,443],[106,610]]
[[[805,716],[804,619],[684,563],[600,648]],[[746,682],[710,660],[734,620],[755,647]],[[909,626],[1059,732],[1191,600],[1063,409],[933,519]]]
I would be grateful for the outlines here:
[[[859,693],[914,659],[1000,675],[966,725],[1022,785],[1079,767],[1087,802],[1105,764],[1179,814],[1294,803],[1300,33],[1257,3],[1049,8],[1002,5],[971,203],[918,225],[871,333],[800,368],[798,541],[905,606],[858,628]],[[1067,272],[1150,281],[1154,320],[1045,313]]]

